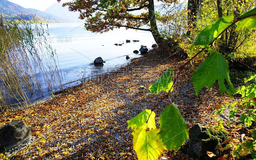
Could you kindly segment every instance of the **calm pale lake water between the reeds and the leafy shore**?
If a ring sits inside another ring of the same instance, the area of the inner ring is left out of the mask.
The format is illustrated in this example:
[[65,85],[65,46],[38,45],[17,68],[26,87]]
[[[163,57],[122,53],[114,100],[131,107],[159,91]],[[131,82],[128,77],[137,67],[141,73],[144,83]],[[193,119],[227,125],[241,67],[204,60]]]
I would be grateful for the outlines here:
[[[86,77],[105,73],[125,65],[131,59],[140,57],[133,50],[139,50],[140,45],[151,48],[155,40],[150,32],[125,28],[115,29],[103,34],[95,34],[84,29],[83,23],[52,23],[48,24],[50,41],[56,49],[59,66],[62,73],[64,88],[77,85]],[[131,40],[126,43],[126,40]],[[140,40],[140,42],[132,42]],[[115,46],[115,43],[124,43]],[[93,61],[102,57],[106,63],[102,67],[95,67]],[[42,84],[42,88],[44,88]],[[44,91],[44,98],[49,93]]]

